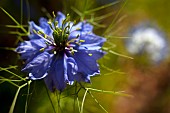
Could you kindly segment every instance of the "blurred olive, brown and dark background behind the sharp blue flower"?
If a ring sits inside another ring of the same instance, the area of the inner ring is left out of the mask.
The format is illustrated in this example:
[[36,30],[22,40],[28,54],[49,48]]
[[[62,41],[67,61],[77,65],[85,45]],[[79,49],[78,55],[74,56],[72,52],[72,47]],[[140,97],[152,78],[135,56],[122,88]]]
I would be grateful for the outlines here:
[[[48,18],[52,11],[69,13],[72,20],[83,19],[90,22],[94,26],[95,34],[107,38],[104,47],[111,51],[99,60],[101,75],[92,77],[92,84],[85,85],[106,91],[120,91],[133,96],[92,92],[94,98],[109,113],[170,113],[170,2],[126,0],[115,5],[113,2],[116,0],[0,0],[0,7],[26,29],[28,21],[35,21],[38,24],[40,17]],[[106,4],[110,6],[84,13],[97,7],[107,6]],[[84,15],[80,16],[78,12]],[[26,73],[20,71],[24,63],[13,50],[22,39],[28,40],[28,38],[16,34],[16,32],[22,33],[19,28],[7,26],[16,24],[2,10],[0,10],[0,20],[0,67],[17,66],[10,69],[10,72],[25,78]],[[15,77],[2,68],[0,68],[0,113],[7,113],[17,87],[3,80]],[[74,97],[69,95],[70,92],[72,91],[63,93],[65,98],[61,99],[61,104],[58,106],[56,94],[46,90],[43,80],[34,81],[31,83],[29,94],[27,86],[20,90],[14,113],[25,111],[26,100],[28,113],[53,113],[48,94],[56,111],[60,108],[62,110],[59,111],[63,113],[78,112],[78,108],[73,107]],[[78,95],[80,102],[83,94],[84,91],[80,91]],[[94,98],[87,95],[84,113],[104,112]]]

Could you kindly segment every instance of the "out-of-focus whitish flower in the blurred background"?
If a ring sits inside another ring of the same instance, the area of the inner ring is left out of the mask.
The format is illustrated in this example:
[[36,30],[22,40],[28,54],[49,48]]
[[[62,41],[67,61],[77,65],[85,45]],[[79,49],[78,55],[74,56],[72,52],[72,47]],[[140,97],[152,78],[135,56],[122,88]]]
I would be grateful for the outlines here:
[[147,24],[139,25],[127,39],[127,49],[132,54],[146,52],[155,63],[163,60],[167,54],[167,43],[163,33]]

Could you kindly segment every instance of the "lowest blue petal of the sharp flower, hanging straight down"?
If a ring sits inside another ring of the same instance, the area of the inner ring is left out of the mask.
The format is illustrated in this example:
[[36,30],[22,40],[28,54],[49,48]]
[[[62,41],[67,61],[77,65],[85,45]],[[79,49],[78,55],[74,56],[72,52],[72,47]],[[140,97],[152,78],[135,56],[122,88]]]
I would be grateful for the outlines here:
[[54,88],[63,91],[68,82],[66,58],[62,55],[55,56],[48,76],[44,78],[47,87],[53,91]]

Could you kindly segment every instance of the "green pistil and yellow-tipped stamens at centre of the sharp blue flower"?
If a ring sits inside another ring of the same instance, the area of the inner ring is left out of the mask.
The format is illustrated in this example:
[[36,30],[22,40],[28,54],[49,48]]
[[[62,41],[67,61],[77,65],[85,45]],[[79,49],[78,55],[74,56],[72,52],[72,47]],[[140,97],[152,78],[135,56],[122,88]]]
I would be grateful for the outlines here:
[[[36,34],[38,34],[40,37],[42,37],[46,41],[46,44],[48,46],[53,47],[53,49],[51,49],[52,50],[51,52],[53,52],[54,54],[60,53],[60,52],[65,52],[65,50],[67,50],[71,54],[74,54],[74,52],[77,52],[77,50],[74,50],[74,47],[72,47],[70,45],[70,43],[74,44],[74,45],[80,45],[81,42],[84,42],[84,40],[78,40],[79,35],[77,35],[77,37],[75,37],[71,40],[68,40],[70,31],[71,31],[71,27],[73,26],[72,25],[73,23],[70,22],[69,15],[67,15],[66,18],[62,21],[62,24],[61,24],[60,20],[59,20],[59,22],[55,20],[55,15],[54,15],[54,19],[49,20],[48,24],[53,31],[52,32],[53,37],[46,35],[42,31],[38,31],[38,32],[35,30],[33,30],[33,31]],[[44,51],[45,48],[41,48],[40,51]]]

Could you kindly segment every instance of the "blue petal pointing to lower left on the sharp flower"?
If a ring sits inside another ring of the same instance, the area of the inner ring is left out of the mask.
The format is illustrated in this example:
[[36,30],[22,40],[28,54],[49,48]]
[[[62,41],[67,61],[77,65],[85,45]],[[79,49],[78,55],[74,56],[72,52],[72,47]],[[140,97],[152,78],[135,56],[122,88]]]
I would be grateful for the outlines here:
[[30,79],[42,79],[47,75],[50,68],[52,56],[48,52],[43,52],[30,61],[22,71],[29,72]]

